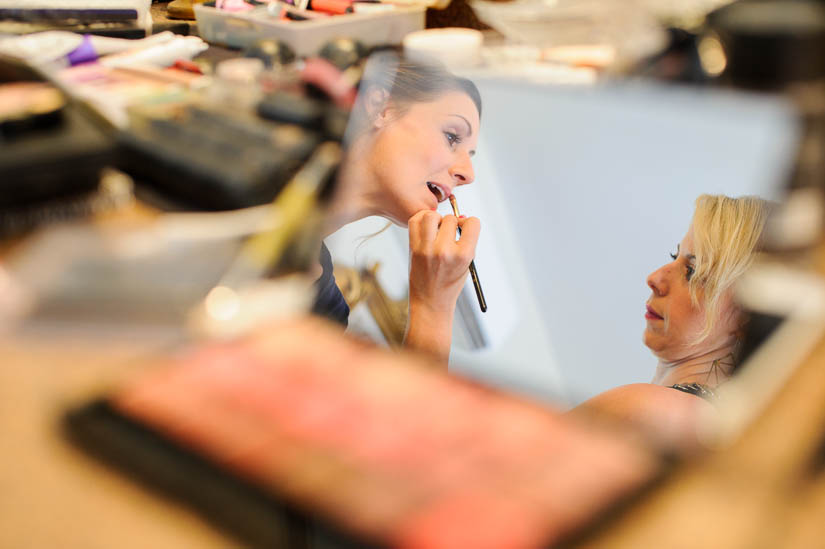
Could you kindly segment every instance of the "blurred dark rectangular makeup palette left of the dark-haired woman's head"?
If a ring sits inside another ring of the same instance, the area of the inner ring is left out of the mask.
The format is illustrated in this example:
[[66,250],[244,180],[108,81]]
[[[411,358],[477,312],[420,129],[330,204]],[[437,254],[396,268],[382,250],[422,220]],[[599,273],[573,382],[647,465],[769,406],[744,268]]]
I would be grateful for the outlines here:
[[118,168],[184,207],[270,202],[320,142],[317,132],[217,106],[144,110],[118,139]]

